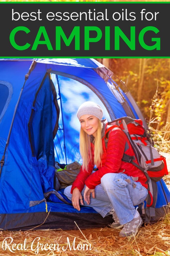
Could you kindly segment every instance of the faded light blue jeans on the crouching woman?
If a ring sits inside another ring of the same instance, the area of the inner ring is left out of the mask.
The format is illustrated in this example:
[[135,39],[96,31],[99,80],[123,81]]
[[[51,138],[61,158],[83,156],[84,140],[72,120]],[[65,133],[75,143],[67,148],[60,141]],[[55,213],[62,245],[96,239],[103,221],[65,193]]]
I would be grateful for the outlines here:
[[[125,180],[128,179],[128,182]],[[84,194],[82,190],[82,196]],[[65,188],[64,195],[70,200],[71,186]],[[84,201],[85,206],[92,207],[104,218],[114,208],[120,224],[133,220],[136,210],[135,205],[143,202],[148,191],[140,182],[123,173],[107,173],[101,178],[101,184],[95,188],[95,198],[90,195],[90,204]]]

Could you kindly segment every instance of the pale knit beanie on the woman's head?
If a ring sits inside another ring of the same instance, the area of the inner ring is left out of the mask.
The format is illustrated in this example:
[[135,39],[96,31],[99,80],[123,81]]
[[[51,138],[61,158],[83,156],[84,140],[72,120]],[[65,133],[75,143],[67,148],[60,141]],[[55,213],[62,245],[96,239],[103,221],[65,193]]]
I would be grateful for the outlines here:
[[92,101],[86,101],[79,107],[77,111],[77,117],[79,120],[82,115],[94,115],[101,121],[103,117],[103,110],[98,104]]

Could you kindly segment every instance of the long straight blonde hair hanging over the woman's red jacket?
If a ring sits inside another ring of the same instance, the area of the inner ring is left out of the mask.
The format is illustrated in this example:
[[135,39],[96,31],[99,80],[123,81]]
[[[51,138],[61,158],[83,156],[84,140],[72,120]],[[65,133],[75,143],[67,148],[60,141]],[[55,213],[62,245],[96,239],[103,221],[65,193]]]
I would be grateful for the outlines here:
[[[97,167],[101,166],[101,156],[103,154],[102,148],[102,139],[101,139],[101,131],[102,131],[103,124],[98,119],[98,127],[97,127],[97,134],[93,141],[94,143],[94,165]],[[91,145],[90,145],[90,135],[88,135],[83,129],[80,129],[80,154],[83,159],[83,170],[88,169],[88,164],[92,159],[91,155]]]

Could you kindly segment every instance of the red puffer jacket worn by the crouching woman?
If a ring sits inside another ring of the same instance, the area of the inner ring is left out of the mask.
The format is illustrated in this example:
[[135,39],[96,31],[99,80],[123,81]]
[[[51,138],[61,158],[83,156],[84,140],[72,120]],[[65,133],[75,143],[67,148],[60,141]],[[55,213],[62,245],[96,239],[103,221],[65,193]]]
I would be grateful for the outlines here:
[[[126,142],[128,144],[128,149],[124,152],[125,145],[127,145]],[[103,177],[104,174],[120,173],[123,172],[123,170],[125,170],[124,174],[138,177],[138,182],[140,182],[144,187],[148,187],[148,185],[145,184],[147,181],[145,174],[133,164],[125,163],[122,161],[124,153],[130,156],[135,156],[135,153],[132,146],[130,145],[127,136],[119,127],[115,127],[110,131],[107,149],[104,141],[104,136],[102,137],[102,146],[102,166],[96,172],[92,173],[94,167],[94,145],[91,143],[92,161],[89,163],[87,171],[83,171],[82,168],[80,169],[80,173],[77,175],[75,181],[73,182],[71,193],[75,187],[77,187],[81,192],[85,184],[88,188],[94,189],[97,185],[101,183],[100,179]],[[136,157],[134,162],[138,164]]]

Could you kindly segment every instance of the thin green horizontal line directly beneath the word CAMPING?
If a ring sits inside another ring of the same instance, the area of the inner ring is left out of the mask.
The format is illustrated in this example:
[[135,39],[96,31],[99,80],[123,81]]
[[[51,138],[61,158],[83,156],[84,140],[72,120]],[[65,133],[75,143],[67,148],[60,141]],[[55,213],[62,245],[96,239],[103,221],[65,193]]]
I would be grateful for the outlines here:
[[1,59],[13,59],[13,58],[19,58],[19,59],[32,59],[32,58],[43,58],[43,59],[55,59],[55,58],[64,58],[64,59],[67,59],[67,58],[83,58],[83,59],[87,59],[87,58],[103,58],[103,59],[169,59],[170,56],[22,56],[22,57],[18,57],[18,56],[12,56],[12,57],[9,57],[9,56],[0,56]]

